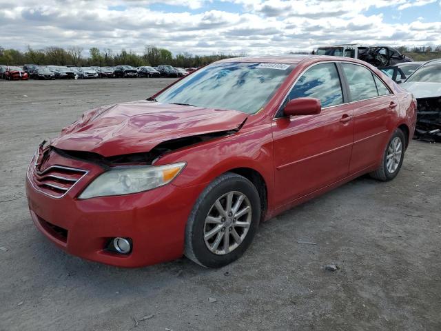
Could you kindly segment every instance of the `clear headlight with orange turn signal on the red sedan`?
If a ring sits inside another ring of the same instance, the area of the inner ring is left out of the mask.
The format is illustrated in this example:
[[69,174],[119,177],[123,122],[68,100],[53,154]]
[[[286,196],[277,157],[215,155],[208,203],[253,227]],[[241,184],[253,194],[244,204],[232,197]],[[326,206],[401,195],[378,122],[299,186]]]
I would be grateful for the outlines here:
[[108,170],[80,194],[79,199],[130,194],[170,183],[185,167],[185,162],[167,165],[132,165]]

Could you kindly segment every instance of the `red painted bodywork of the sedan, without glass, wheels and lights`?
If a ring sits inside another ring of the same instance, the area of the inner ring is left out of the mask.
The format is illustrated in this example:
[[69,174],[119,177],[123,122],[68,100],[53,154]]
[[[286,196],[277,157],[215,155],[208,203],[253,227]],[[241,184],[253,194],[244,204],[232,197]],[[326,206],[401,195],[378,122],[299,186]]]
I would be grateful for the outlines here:
[[[223,60],[231,61],[231,60]],[[43,164],[88,170],[68,193],[54,199],[35,189],[33,163],[26,191],[37,228],[63,250],[85,259],[123,267],[150,265],[181,257],[185,224],[207,183],[224,172],[249,168],[267,187],[265,219],[375,170],[398,126],[407,126],[409,140],[416,122],[411,94],[367,63],[341,57],[275,57],[238,61],[296,63],[287,80],[258,114],[160,105],[147,101],[93,110],[65,128],[53,146],[87,150],[104,156],[147,152],[161,141],[204,132],[238,132],[164,154],[163,165],[187,162],[172,183],[148,192],[79,200],[79,193],[104,170],[93,163],[65,159],[57,154]],[[319,61],[362,63],[376,72],[393,94],[323,108],[319,114],[274,119],[292,83],[308,66]],[[391,107],[391,102],[396,107]],[[99,115],[103,111],[103,114]],[[98,116],[98,117],[96,117]],[[92,120],[93,117],[96,119]],[[38,216],[37,216],[38,215]],[[45,220],[68,230],[57,237]],[[130,237],[129,255],[107,252],[112,237]]]

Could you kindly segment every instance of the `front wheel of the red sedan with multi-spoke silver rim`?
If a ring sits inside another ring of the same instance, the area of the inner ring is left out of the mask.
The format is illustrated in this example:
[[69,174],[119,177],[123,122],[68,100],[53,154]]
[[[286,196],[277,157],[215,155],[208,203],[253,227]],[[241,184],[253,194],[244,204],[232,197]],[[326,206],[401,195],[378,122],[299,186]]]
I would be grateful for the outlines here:
[[[220,201],[221,208],[227,213],[229,196],[232,197],[230,205],[233,208],[232,214],[228,216],[221,214],[214,204]],[[252,243],[260,221],[260,208],[260,197],[256,187],[245,177],[227,172],[214,179],[196,200],[187,221],[185,256],[206,268],[220,268],[236,261]],[[234,209],[236,214],[244,210],[248,212],[234,219]],[[210,220],[216,220],[216,223],[206,223],[209,217]],[[210,233],[214,234],[205,241],[205,237]]]

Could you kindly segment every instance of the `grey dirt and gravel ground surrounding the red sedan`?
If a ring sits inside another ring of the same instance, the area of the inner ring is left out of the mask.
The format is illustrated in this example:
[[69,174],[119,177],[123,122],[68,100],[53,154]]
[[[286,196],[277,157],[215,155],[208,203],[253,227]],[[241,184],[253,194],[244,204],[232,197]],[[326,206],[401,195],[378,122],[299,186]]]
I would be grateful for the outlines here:
[[439,144],[412,141],[392,182],[363,177],[264,223],[220,270],[113,268],[45,239],[23,188],[38,143],[170,82],[0,81],[0,330],[441,330]]

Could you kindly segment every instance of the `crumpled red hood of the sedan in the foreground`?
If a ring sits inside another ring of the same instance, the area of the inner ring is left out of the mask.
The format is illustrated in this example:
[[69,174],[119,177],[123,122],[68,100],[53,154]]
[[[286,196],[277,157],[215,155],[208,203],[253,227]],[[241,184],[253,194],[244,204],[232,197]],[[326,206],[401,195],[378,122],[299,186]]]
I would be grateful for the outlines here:
[[119,103],[86,112],[50,145],[103,157],[149,152],[163,141],[237,129],[247,117],[236,110],[154,101]]

